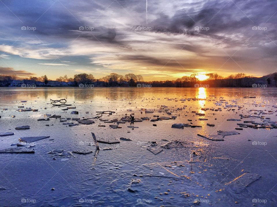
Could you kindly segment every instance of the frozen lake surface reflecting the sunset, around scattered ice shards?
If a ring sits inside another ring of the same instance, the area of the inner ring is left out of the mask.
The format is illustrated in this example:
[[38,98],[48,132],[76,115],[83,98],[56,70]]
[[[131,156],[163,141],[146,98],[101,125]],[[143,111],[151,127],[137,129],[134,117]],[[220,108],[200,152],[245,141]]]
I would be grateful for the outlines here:
[[[276,206],[276,96],[273,88],[0,88],[0,133],[14,132],[0,137],[0,150],[35,151],[0,154],[0,206]],[[63,98],[72,106],[50,104]],[[26,108],[38,111],[19,111]],[[93,118],[101,111],[115,113]],[[171,119],[132,124],[123,118],[132,113],[136,120]],[[72,118],[95,123],[63,124],[78,123]],[[121,118],[126,123],[117,124]],[[175,123],[187,126],[171,128]],[[15,129],[24,125],[30,129]],[[218,131],[239,134],[224,141],[197,135]],[[132,141],[99,143],[97,151],[91,132]],[[50,137],[11,146],[33,136]],[[47,154],[53,150],[64,151]],[[73,152],[81,150],[92,153]]]

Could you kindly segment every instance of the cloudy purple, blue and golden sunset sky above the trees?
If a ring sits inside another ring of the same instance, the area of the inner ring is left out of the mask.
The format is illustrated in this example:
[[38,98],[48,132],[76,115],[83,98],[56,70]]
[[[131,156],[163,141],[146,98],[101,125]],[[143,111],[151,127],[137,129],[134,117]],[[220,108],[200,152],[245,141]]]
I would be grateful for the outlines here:
[[277,72],[276,0],[0,0],[0,74]]

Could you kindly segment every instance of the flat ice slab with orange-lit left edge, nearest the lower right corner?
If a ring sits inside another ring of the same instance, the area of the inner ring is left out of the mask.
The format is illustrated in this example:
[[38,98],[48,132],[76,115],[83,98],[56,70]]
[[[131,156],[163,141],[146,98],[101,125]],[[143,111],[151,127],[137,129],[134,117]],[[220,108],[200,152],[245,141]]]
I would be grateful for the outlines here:
[[261,176],[256,173],[246,172],[232,181],[225,183],[225,185],[230,186],[235,193],[241,193],[245,187],[249,186],[254,181],[257,181],[260,177]]

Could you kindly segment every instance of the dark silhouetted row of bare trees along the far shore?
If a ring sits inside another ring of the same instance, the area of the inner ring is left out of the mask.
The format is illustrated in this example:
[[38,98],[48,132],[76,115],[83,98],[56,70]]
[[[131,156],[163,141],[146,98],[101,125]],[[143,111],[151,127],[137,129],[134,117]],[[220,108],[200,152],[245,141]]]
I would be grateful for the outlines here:
[[[81,73],[75,74],[73,78],[68,78],[67,75],[60,76],[56,79],[56,81],[64,81],[71,82],[72,85],[77,86],[78,84],[93,84],[102,82],[102,86],[118,86],[123,84],[124,86],[134,87],[138,83],[148,84],[152,87],[194,87],[195,84],[206,84],[209,87],[252,87],[252,84],[262,83],[266,84],[268,87],[276,87],[277,86],[277,73],[269,74],[263,77],[253,77],[246,76],[244,73],[232,74],[227,77],[220,76],[217,73],[207,73],[206,80],[200,81],[197,78],[197,74],[191,74],[190,76],[183,76],[181,78],[177,78],[176,80],[166,80],[166,81],[143,81],[142,75],[135,75],[132,73],[126,74],[125,76],[119,75],[117,73],[111,73],[102,78],[96,79],[92,74]],[[16,75],[1,75],[0,74],[0,82],[2,83],[10,83],[12,80],[22,80],[22,78],[18,78]],[[46,85],[50,81],[46,75],[35,77],[30,76],[28,80],[31,81],[41,81]],[[126,83],[126,84],[125,84]]]

